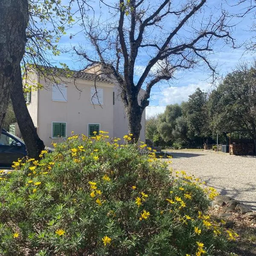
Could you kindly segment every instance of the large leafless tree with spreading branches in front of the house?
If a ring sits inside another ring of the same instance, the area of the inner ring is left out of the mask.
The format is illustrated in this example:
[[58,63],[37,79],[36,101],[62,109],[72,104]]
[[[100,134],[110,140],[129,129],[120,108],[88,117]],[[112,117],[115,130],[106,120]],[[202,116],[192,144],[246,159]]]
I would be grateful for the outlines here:
[[[83,1],[80,1],[83,2]],[[205,17],[207,0],[119,0],[116,4],[100,3],[111,18],[105,22],[83,16],[85,36],[96,55],[86,49],[74,48],[86,61],[86,67],[100,64],[120,84],[120,96],[128,116],[129,133],[137,141],[143,111],[149,105],[152,87],[172,79],[175,71],[192,69],[205,63],[214,74],[215,66],[207,56],[218,39],[234,45],[227,13]],[[81,14],[83,12],[81,11]],[[85,39],[86,40],[86,39]],[[142,54],[147,62],[137,79],[135,69]],[[141,88],[145,91],[139,96]]]

